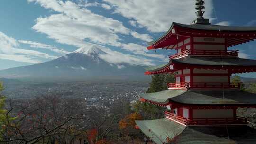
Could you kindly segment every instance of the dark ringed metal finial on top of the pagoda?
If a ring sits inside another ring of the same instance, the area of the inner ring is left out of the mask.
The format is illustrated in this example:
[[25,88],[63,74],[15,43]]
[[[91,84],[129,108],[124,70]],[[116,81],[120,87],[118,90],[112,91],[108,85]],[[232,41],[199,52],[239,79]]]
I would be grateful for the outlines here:
[[204,0],[196,0],[195,2],[195,9],[197,10],[196,15],[197,15],[197,18],[192,22],[192,24],[210,24],[209,23],[209,19],[205,19],[203,18],[203,14],[205,11],[203,11],[203,9],[205,9],[204,7]]

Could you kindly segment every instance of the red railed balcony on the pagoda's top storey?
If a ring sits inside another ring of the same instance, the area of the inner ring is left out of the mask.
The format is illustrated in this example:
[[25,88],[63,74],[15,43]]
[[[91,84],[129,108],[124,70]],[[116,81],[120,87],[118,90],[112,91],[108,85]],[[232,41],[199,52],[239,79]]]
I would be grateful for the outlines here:
[[238,56],[239,51],[222,51],[222,50],[185,50],[181,53],[169,56],[170,59],[181,58],[187,55],[200,55],[200,56]]

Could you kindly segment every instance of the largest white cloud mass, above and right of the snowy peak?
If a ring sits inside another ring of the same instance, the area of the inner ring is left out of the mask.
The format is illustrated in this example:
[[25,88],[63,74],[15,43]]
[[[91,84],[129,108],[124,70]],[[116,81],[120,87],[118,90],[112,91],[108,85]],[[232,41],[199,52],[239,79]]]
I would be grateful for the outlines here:
[[[131,31],[118,20],[92,13],[90,10],[81,8],[78,4],[71,1],[28,1],[37,2],[46,9],[58,12],[57,14],[52,14],[48,17],[37,18],[36,24],[32,28],[37,32],[48,35],[59,43],[73,45],[79,48],[88,44],[111,45],[120,47],[134,54],[146,55],[147,57],[157,57],[158,59],[164,57],[163,55],[156,56],[155,54],[147,54],[146,46],[134,43],[122,43],[119,34],[131,34],[135,38],[145,41],[150,41],[152,38],[147,34],[139,34]],[[128,57],[129,56],[131,55],[128,55]],[[134,57],[138,58],[137,56]],[[134,57],[132,57],[132,59]],[[137,60],[134,60],[134,62],[135,61]],[[142,62],[142,59],[140,62]],[[147,62],[148,61],[146,61],[146,63]]]

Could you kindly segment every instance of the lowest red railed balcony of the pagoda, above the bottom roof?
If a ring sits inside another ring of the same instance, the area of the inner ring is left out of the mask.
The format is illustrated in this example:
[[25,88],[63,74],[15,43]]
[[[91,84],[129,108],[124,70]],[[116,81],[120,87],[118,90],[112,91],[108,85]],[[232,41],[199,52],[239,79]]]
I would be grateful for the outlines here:
[[165,118],[177,121],[186,126],[201,126],[201,125],[247,125],[247,118],[184,118],[177,116],[171,112],[165,111]]

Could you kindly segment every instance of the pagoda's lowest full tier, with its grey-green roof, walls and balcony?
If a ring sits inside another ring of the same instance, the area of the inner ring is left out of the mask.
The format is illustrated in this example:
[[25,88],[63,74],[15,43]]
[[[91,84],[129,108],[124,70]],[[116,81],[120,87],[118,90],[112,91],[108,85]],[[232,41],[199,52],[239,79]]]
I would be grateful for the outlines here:
[[167,107],[165,118],[185,126],[247,125],[237,108],[256,108],[256,94],[240,90],[164,90],[140,97]]

